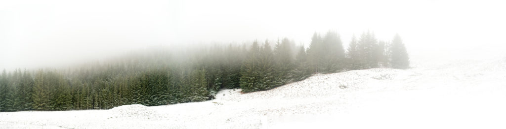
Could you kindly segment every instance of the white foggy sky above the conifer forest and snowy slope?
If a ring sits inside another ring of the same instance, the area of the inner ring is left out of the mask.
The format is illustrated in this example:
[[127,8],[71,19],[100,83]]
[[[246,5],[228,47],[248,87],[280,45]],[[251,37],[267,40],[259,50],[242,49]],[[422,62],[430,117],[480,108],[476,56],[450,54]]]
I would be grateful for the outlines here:
[[[506,48],[503,1],[2,1],[0,69],[65,67],[151,47],[287,37],[308,46],[333,30],[400,34],[412,56]],[[482,57],[478,55],[477,58]]]

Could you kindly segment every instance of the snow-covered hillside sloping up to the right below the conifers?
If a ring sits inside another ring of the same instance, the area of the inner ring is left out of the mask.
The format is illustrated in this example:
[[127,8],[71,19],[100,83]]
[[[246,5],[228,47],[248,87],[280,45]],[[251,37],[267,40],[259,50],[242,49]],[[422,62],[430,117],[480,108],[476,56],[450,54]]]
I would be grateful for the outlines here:
[[0,128],[506,128],[506,56],[412,57],[412,66],[222,90],[205,102],[0,112]]

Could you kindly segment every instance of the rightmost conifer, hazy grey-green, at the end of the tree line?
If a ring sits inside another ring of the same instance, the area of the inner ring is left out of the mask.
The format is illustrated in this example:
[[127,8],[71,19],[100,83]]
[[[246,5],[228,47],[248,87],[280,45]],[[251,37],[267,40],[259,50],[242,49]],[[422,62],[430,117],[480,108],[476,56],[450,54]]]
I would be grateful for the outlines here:
[[391,65],[395,69],[407,69],[409,68],[409,55],[406,51],[404,43],[399,34],[396,34],[392,40],[391,48]]

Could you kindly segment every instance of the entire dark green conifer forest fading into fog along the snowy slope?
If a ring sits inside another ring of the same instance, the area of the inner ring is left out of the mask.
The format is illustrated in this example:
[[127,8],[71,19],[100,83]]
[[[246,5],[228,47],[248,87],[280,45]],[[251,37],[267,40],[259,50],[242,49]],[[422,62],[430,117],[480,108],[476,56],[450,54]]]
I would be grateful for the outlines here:
[[314,33],[308,48],[276,42],[210,45],[181,51],[133,52],[69,69],[4,70],[0,111],[109,109],[214,99],[220,89],[269,90],[314,73],[369,68],[407,69],[402,39],[378,41],[364,32],[345,50],[338,33]]

